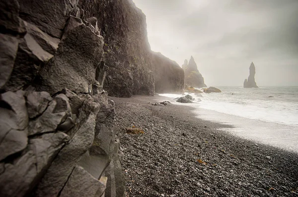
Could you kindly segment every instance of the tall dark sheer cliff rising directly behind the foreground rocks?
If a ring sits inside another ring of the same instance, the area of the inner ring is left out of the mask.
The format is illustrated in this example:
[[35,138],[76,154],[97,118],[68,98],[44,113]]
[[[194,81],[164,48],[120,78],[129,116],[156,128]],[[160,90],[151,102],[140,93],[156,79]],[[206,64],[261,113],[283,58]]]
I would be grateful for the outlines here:
[[153,95],[154,76],[146,16],[132,0],[80,0],[85,17],[96,17],[104,37],[104,89],[110,96]]

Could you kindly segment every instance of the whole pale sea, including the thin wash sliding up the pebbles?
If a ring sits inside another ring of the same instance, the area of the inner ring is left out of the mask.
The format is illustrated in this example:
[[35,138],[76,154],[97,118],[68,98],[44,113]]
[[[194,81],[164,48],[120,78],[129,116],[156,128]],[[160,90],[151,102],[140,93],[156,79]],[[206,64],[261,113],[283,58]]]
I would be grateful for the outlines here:
[[204,93],[202,98],[190,94],[195,98],[192,104],[175,102],[183,95],[160,95],[174,104],[194,107],[198,118],[234,127],[223,131],[298,152],[298,86],[217,87],[222,93]]

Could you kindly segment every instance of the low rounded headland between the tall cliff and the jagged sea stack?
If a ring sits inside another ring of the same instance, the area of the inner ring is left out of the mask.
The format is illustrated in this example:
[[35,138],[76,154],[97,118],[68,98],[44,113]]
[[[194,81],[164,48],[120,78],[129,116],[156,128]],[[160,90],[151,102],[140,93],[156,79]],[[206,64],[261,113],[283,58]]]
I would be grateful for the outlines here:
[[184,72],[176,62],[161,53],[152,52],[152,69],[155,79],[155,92],[182,92]]

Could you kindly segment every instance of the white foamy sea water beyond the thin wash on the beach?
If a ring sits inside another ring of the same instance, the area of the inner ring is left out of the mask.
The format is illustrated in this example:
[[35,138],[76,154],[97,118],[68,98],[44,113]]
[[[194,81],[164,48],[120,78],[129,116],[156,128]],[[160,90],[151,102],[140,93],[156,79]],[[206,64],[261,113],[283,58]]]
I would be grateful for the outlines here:
[[[298,127],[298,87],[220,87],[222,93],[202,94],[194,107],[243,118]],[[179,94],[161,94],[172,99]],[[273,96],[269,98],[269,96]]]

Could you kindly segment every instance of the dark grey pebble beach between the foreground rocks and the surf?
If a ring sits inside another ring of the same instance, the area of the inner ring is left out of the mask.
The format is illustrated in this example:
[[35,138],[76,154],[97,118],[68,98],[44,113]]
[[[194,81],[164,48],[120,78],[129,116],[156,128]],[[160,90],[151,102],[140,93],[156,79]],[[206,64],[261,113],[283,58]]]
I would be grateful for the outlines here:
[[127,197],[298,197],[298,154],[218,131],[191,107],[147,103],[165,97],[110,99]]

